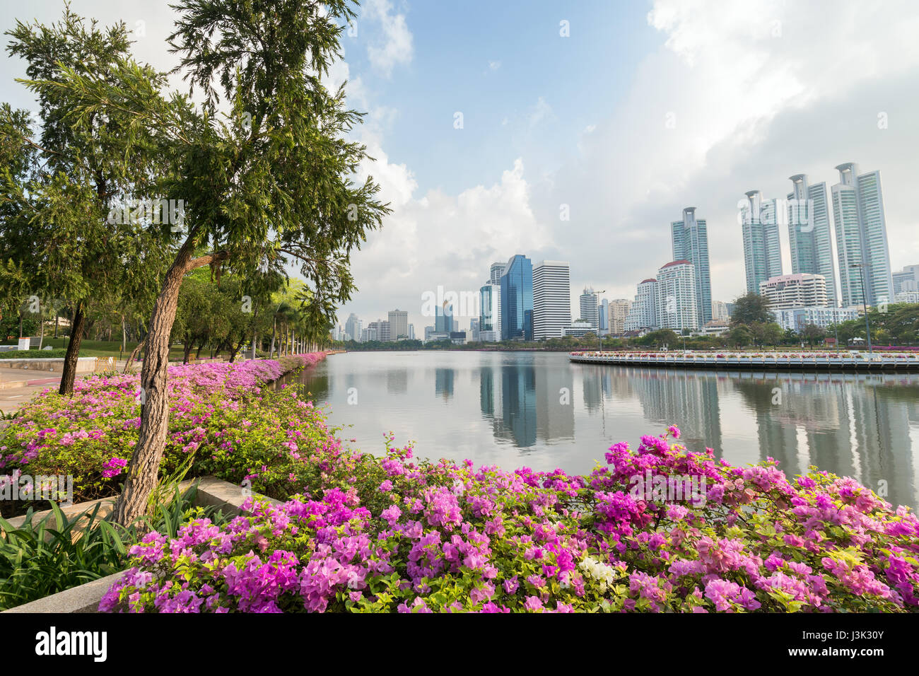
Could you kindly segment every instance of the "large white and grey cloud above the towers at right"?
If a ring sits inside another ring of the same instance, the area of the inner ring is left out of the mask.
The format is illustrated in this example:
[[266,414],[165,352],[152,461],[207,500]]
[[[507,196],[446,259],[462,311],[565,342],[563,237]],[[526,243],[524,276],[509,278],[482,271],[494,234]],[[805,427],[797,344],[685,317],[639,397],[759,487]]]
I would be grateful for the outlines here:
[[[657,0],[648,22],[664,44],[610,117],[584,130],[578,156],[533,186],[534,211],[573,260],[573,288],[593,280],[630,295],[669,260],[670,221],[696,206],[709,222],[713,296],[733,297],[744,285],[743,192],[783,197],[800,171],[832,185],[845,161],[881,170],[894,266],[897,241],[919,259],[914,210],[891,189],[917,178],[903,150],[919,135],[903,87],[919,74],[919,6]],[[901,122],[879,132],[888,108]],[[560,202],[572,223],[558,223]]]

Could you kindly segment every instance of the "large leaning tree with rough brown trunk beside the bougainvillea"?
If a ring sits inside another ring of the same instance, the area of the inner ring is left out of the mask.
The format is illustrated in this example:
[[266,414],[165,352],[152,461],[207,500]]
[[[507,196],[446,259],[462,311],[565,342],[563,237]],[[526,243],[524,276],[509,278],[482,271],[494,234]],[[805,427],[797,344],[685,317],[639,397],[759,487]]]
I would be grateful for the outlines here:
[[[323,76],[340,58],[338,21],[355,17],[350,0],[183,0],[174,6],[168,41],[179,55],[191,94],[165,94],[165,76],[130,58],[111,81],[66,72],[62,87],[81,101],[77,120],[97,113],[128,115],[119,136],[130,156],[145,134],[161,153],[157,187],[184,202],[181,244],[153,304],[141,386],[146,395],[137,445],[114,518],[142,514],[155,487],[168,423],[169,337],[185,275],[221,266],[246,277],[280,270],[291,259],[320,309],[345,303],[354,291],[350,253],[380,227],[388,205],[376,200],[372,178],[355,183],[366,147],[346,134],[361,114],[345,107],[344,86],[330,93]],[[226,120],[218,111],[226,104]],[[133,132],[133,133],[131,133]],[[142,133],[143,132],[143,133]],[[165,235],[171,235],[166,230]],[[332,317],[329,317],[332,319]]]

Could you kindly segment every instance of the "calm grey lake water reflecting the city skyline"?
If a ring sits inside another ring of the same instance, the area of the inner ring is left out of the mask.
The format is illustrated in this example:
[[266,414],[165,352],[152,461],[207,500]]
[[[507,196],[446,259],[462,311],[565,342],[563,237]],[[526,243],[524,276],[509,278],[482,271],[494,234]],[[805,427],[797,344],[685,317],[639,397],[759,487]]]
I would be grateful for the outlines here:
[[[350,352],[298,382],[354,448],[590,472],[617,441],[682,430],[732,464],[773,457],[919,505],[919,374],[714,372],[573,364],[563,352]],[[886,484],[884,483],[886,482]]]

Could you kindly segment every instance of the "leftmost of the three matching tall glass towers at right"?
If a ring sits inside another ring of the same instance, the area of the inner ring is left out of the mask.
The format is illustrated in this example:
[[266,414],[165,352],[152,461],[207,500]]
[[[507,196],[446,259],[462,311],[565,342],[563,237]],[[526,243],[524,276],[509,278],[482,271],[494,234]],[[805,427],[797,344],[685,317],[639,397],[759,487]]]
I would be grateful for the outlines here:
[[741,221],[743,228],[743,265],[747,292],[759,292],[759,285],[782,274],[782,249],[778,239],[775,200],[764,200],[759,190],[746,193]]

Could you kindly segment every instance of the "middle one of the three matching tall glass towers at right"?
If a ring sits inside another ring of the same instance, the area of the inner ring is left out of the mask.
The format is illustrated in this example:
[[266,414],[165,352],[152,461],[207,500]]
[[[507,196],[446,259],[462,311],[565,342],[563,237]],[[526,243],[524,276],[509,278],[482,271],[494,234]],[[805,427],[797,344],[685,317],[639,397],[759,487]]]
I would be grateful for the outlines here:
[[791,274],[823,275],[827,303],[836,307],[839,295],[826,183],[810,184],[806,174],[795,174],[789,180],[792,186],[788,204]]

